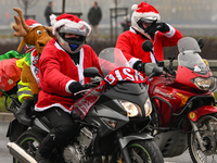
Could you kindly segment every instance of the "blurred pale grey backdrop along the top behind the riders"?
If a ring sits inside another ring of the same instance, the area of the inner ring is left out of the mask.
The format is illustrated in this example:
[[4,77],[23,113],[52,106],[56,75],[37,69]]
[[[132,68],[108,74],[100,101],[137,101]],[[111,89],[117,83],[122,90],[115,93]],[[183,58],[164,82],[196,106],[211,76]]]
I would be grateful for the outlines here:
[[[0,25],[10,25],[13,22],[14,7],[23,9],[27,7],[27,14],[35,15],[36,20],[46,23],[43,12],[51,0],[0,0]],[[52,0],[53,12],[62,12],[62,4],[65,1],[65,12],[81,13],[81,18],[87,21],[87,14],[92,5],[92,0]],[[127,8],[131,15],[131,5],[139,4],[141,0],[97,0],[103,13],[101,26],[110,25],[110,10],[113,8]],[[176,25],[217,25],[217,2],[216,0],[146,0],[154,5],[162,21]],[[120,22],[123,17],[118,17]]]

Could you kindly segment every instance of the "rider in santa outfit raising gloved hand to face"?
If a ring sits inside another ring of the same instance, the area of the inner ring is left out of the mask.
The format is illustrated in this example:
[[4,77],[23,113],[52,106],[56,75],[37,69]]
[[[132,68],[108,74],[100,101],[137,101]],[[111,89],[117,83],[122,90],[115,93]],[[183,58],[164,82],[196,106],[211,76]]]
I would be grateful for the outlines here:
[[158,11],[146,2],[133,4],[131,10],[133,10],[131,27],[118,36],[116,48],[123,51],[133,68],[144,71],[145,62],[156,61],[151,52],[142,50],[143,41],[151,40],[156,59],[163,61],[163,48],[176,46],[182,35],[171,25],[158,22],[161,20]]

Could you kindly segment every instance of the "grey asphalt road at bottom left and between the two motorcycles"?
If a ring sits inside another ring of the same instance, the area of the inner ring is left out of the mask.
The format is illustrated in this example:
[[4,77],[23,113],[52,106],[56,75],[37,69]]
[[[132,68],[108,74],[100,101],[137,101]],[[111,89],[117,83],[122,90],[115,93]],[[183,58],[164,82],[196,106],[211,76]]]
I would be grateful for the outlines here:
[[[0,163],[12,163],[12,155],[9,153],[7,143],[9,139],[5,137],[9,122],[0,122]],[[191,163],[188,152],[180,156],[165,159],[165,163]]]

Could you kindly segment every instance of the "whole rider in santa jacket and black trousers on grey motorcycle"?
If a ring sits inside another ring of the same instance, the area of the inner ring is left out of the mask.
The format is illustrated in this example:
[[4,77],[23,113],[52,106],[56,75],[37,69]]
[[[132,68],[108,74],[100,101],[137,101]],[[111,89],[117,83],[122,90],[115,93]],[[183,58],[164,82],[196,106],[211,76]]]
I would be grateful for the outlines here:
[[85,45],[90,34],[89,24],[73,14],[51,15],[53,38],[44,47],[39,60],[41,91],[35,110],[49,120],[50,134],[41,141],[35,159],[38,163],[50,163],[52,150],[62,146],[73,135],[71,117],[73,93],[90,82],[84,70],[95,66],[100,70],[95,52]]

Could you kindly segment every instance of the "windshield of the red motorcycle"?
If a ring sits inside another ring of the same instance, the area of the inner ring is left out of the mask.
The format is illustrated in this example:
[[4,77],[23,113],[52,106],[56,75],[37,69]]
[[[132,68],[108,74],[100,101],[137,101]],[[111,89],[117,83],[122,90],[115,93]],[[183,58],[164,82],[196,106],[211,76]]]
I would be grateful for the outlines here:
[[178,41],[178,65],[186,66],[199,74],[206,74],[208,66],[197,52],[201,52],[197,41],[191,37],[184,37]]

